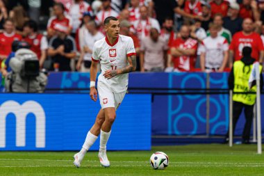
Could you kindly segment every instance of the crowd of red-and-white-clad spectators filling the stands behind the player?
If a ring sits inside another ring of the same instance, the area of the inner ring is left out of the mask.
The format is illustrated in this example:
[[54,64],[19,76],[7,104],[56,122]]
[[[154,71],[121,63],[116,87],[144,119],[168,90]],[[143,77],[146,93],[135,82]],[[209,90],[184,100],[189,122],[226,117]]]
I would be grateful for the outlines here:
[[1,74],[14,40],[28,42],[41,68],[89,72],[108,16],[133,39],[140,72],[229,71],[245,46],[263,62],[261,0],[0,0]]

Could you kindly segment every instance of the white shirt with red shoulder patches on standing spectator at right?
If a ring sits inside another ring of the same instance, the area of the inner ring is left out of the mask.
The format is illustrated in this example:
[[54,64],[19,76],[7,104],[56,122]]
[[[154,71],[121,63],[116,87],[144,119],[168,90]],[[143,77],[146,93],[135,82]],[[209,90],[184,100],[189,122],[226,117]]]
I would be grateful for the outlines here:
[[219,68],[222,66],[224,60],[224,51],[228,51],[229,44],[222,36],[205,38],[199,46],[199,51],[205,53],[205,66],[208,68]]

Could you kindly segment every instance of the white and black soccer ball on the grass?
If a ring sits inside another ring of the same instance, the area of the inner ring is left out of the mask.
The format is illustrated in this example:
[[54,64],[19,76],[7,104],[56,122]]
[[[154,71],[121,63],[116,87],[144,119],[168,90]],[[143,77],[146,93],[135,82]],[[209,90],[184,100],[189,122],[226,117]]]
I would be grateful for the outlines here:
[[155,152],[151,155],[149,162],[154,169],[165,169],[169,165],[169,157],[164,152]]

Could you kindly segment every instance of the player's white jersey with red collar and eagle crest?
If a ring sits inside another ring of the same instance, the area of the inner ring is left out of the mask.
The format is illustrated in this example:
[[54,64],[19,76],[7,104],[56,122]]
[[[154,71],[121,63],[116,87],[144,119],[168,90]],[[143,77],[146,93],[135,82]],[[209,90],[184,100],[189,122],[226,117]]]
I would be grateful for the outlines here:
[[108,38],[102,38],[94,43],[92,49],[92,61],[101,64],[101,74],[98,81],[106,83],[114,93],[126,91],[129,83],[129,74],[119,74],[111,79],[105,79],[104,72],[107,70],[122,69],[129,65],[128,56],[135,55],[135,47],[132,38],[119,35],[113,45]]

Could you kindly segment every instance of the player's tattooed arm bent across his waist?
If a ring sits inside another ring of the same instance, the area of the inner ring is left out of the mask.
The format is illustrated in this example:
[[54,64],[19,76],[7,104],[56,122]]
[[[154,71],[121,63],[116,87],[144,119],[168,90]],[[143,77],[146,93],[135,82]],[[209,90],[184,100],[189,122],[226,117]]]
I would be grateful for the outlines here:
[[106,79],[111,79],[113,77],[115,77],[117,74],[126,74],[129,72],[134,72],[136,67],[137,67],[137,59],[135,56],[129,56],[127,58],[127,60],[129,61],[129,65],[127,67],[124,67],[122,69],[117,69],[117,70],[107,70],[104,73],[104,77]]

